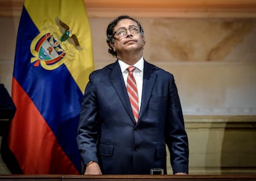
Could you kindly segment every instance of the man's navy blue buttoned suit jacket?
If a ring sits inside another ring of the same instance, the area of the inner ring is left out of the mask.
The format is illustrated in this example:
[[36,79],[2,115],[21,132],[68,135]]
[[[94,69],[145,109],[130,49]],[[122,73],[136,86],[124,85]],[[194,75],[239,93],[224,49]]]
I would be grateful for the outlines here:
[[77,135],[83,163],[96,161],[103,174],[166,174],[166,145],[173,172],[188,172],[189,148],[173,75],[144,61],[142,102],[135,124],[116,61],[90,74]]

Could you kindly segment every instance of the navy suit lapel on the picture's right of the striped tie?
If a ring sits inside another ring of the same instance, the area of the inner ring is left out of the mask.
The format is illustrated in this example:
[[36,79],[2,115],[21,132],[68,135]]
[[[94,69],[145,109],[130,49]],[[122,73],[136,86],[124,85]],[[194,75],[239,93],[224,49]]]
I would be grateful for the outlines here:
[[144,62],[144,71],[143,71],[143,87],[142,87],[142,102],[140,106],[139,121],[140,117],[143,115],[145,109],[147,108],[148,102],[150,100],[153,87],[155,86],[155,81],[157,74],[154,73],[156,66],[151,65],[150,63]]

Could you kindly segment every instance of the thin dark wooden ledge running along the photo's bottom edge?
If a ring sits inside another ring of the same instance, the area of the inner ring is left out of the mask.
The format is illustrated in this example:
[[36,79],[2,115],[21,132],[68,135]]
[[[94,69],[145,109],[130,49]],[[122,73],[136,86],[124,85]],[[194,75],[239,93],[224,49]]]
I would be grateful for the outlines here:
[[256,180],[256,175],[0,175],[0,180]]

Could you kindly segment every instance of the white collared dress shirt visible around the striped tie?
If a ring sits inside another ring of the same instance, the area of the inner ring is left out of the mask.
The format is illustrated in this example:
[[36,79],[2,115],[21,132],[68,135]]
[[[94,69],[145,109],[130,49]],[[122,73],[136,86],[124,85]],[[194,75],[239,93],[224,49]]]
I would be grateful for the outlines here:
[[140,60],[135,63],[134,65],[128,65],[127,63],[124,63],[122,60],[118,60],[118,63],[120,65],[121,71],[122,71],[122,77],[124,78],[124,82],[127,86],[127,77],[128,77],[128,71],[126,70],[128,66],[135,66],[134,70],[134,78],[137,84],[137,91],[139,95],[139,111],[140,111],[140,104],[142,101],[142,85],[143,85],[143,69],[144,69],[144,59],[143,57],[140,58]]

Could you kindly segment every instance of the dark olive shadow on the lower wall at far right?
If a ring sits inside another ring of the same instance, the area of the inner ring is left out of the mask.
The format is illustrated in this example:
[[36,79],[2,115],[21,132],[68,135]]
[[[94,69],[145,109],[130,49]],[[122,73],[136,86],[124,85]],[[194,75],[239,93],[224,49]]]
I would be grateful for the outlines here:
[[221,147],[221,174],[255,174],[256,124],[227,123]]

